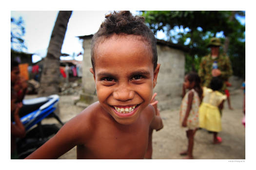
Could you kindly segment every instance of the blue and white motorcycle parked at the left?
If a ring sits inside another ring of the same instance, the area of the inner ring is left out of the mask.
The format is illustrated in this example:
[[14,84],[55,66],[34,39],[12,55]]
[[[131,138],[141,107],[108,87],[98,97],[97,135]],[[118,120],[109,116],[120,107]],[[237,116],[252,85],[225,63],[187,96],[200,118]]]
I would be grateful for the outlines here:
[[[59,95],[24,99],[20,108],[20,120],[26,129],[26,136],[17,141],[17,152],[20,159],[38,149],[47,140],[53,137],[64,124],[56,111]],[[41,124],[42,119],[52,117],[59,124]]]

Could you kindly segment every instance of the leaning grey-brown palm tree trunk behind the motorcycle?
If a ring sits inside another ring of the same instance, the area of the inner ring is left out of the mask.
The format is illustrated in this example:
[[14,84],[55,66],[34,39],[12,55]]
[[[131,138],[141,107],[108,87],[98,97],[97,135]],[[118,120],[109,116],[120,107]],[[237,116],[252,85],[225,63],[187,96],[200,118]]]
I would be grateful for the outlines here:
[[39,96],[59,93],[59,57],[72,11],[59,11],[44,58]]

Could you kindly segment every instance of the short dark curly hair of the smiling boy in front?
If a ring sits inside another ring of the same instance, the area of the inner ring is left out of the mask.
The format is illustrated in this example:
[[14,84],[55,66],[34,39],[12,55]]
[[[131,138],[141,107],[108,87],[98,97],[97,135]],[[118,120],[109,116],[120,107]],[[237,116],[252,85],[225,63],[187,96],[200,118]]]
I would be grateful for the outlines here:
[[158,53],[156,38],[152,31],[145,25],[144,17],[133,16],[130,11],[120,11],[113,12],[105,16],[104,22],[100,25],[98,32],[94,34],[92,39],[91,46],[91,62],[94,69],[94,50],[95,46],[102,38],[106,39],[112,36],[113,34],[133,34],[139,35],[146,42],[151,45],[152,54],[153,54],[153,65],[154,70],[157,67],[158,63]]

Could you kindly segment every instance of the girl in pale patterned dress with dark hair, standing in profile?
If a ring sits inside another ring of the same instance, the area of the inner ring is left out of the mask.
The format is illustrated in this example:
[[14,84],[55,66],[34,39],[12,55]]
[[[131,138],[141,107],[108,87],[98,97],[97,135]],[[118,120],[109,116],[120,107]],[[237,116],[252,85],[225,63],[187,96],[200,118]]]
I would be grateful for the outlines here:
[[179,122],[182,127],[187,127],[188,149],[180,155],[187,155],[186,159],[193,159],[194,136],[198,127],[198,108],[201,102],[202,88],[197,73],[185,76],[183,86],[189,91],[185,94],[180,105]]

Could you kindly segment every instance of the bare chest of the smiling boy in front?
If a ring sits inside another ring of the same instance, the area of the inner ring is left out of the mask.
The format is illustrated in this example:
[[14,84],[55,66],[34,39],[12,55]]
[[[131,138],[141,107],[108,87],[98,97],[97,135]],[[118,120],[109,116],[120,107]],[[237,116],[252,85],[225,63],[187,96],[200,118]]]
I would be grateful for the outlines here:
[[77,147],[78,159],[143,159],[148,145],[148,125],[127,129],[98,129]]

